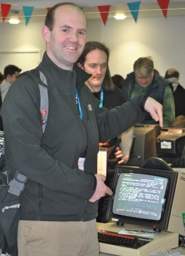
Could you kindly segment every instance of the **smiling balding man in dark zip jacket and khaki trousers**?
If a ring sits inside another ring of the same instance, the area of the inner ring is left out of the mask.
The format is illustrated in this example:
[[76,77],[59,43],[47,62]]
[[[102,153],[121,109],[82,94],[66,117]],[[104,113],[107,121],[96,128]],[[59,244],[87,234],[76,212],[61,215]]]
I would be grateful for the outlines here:
[[[2,104],[8,178],[28,177],[21,196],[19,256],[98,256],[98,199],[111,195],[97,174],[99,139],[105,142],[140,122],[144,111],[160,120],[162,106],[147,95],[107,110],[74,63],[84,50],[86,18],[72,3],[53,6],[42,35],[46,52],[37,69],[48,81],[48,119],[42,133],[38,84],[24,74]],[[84,158],[84,169],[79,162]]]

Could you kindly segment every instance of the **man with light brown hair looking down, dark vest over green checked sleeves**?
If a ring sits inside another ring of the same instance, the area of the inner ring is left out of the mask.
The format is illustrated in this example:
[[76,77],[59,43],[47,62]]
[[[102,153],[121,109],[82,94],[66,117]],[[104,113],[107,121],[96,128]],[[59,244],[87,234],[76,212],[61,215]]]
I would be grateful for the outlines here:
[[[157,74],[150,57],[138,58],[134,63],[134,71],[127,75],[122,92],[125,99],[147,93],[163,105],[163,126],[170,127],[175,118],[173,93],[170,81]],[[143,123],[154,124],[150,114],[146,113]]]

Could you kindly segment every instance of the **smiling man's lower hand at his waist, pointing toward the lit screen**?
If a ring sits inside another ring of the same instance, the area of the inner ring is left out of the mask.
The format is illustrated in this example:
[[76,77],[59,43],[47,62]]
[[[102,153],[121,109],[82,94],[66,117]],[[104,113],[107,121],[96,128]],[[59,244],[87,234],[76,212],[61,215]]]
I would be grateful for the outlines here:
[[111,191],[108,186],[105,185],[104,181],[106,177],[101,174],[95,174],[95,178],[97,179],[97,187],[95,189],[94,195],[89,200],[91,203],[94,203],[95,201],[99,200],[103,196],[107,195],[113,195],[113,192]]

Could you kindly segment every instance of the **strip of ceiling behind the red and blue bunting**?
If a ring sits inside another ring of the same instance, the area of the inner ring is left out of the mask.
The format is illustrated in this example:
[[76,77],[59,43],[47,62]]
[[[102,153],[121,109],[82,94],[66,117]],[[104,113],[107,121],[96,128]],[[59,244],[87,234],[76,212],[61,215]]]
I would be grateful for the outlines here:
[[[125,14],[128,18],[133,18],[127,3],[137,2],[138,0],[64,0],[65,2],[75,2],[75,4],[83,7],[87,19],[100,19],[100,12],[97,6],[111,5],[108,18],[113,18],[115,14]],[[157,0],[140,0],[140,9],[138,18],[145,17],[164,17]],[[164,0],[163,0],[164,1]],[[58,4],[57,0],[4,0],[4,4],[10,4],[11,9],[5,22],[8,22],[10,17],[18,17],[21,22],[25,22],[22,6],[33,6],[31,19],[29,22],[44,22],[45,15],[47,14],[47,7]],[[167,17],[170,16],[185,16],[185,0],[170,0]],[[2,23],[2,18],[0,19]]]

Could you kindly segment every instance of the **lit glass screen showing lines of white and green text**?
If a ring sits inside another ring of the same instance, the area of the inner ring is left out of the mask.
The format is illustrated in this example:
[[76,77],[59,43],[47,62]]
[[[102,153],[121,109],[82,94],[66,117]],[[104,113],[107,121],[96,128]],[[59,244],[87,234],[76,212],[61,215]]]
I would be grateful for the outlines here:
[[113,213],[160,221],[168,183],[168,177],[146,173],[120,173],[115,189]]

